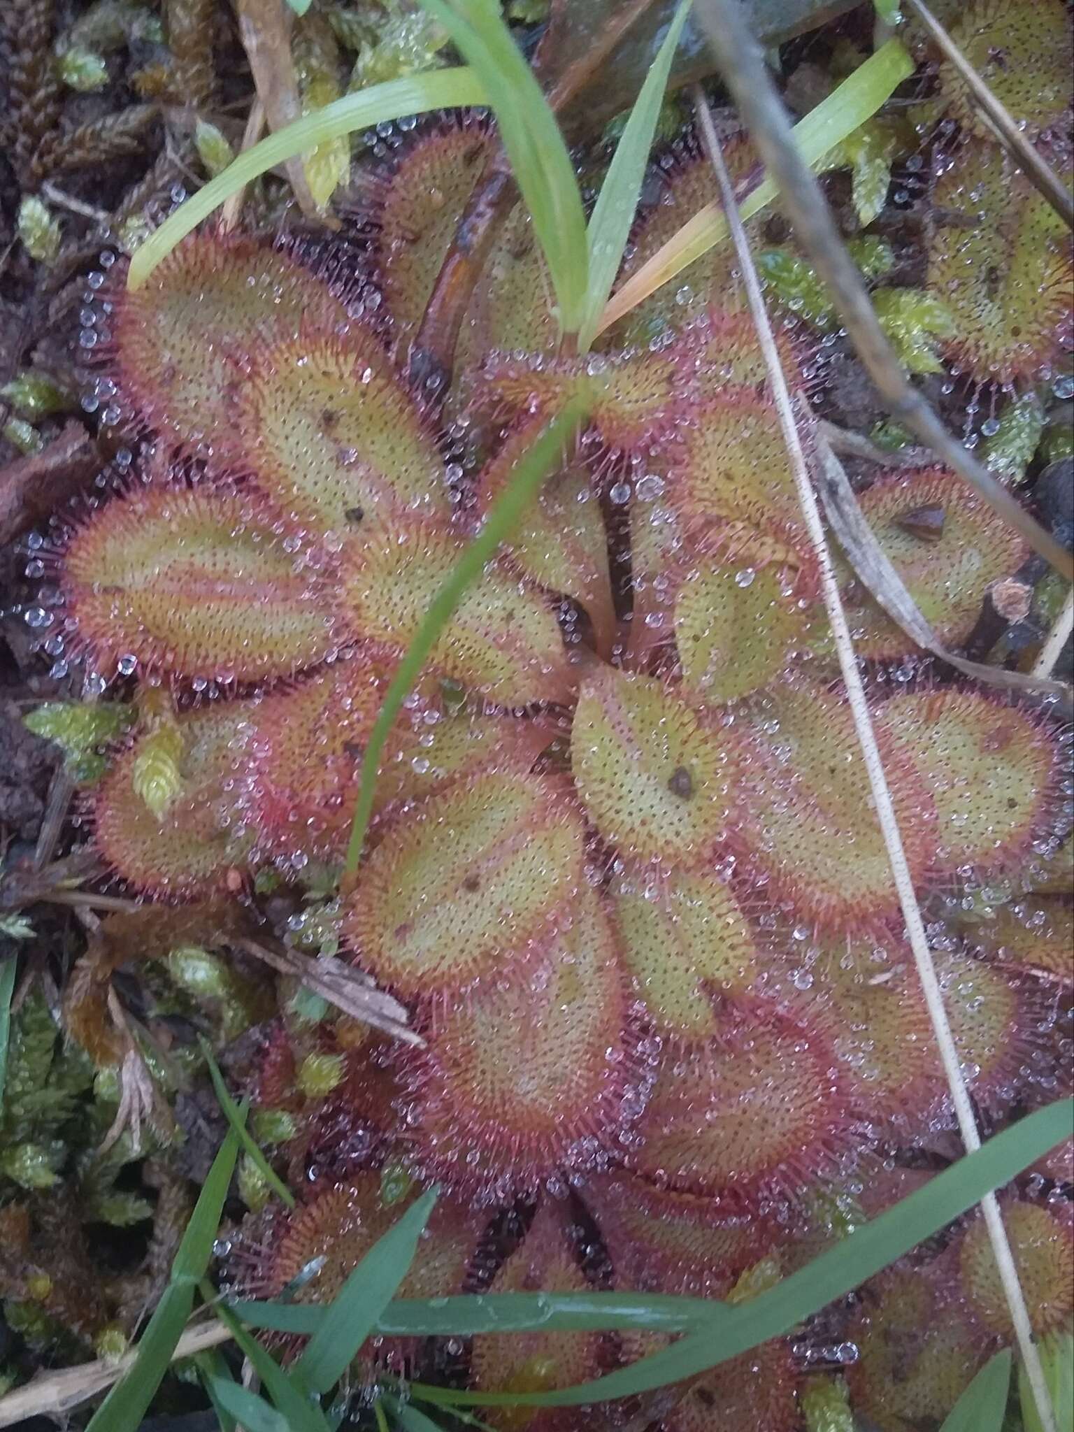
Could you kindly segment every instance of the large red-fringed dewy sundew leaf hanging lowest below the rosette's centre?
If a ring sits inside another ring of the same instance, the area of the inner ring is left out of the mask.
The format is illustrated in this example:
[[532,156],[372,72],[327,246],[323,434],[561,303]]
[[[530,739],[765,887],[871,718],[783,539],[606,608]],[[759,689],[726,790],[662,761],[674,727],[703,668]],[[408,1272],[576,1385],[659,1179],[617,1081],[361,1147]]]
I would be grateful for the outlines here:
[[627,1002],[603,904],[583,885],[543,957],[504,948],[408,1055],[421,1167],[488,1200],[609,1150],[642,1093]]

